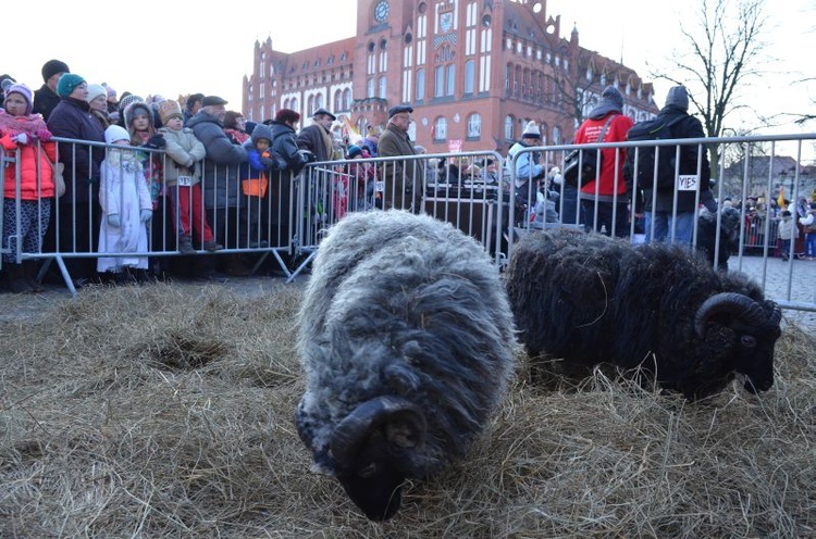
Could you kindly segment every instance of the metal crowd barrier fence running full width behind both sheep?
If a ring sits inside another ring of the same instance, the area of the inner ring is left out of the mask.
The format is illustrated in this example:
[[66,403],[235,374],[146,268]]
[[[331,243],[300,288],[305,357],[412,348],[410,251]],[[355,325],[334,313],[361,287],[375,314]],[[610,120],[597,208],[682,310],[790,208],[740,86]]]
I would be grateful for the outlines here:
[[[779,180],[772,163],[783,159],[780,155],[796,155],[794,163],[799,163],[802,145],[814,139],[816,135],[782,135],[580,148],[558,145],[523,148],[507,160],[492,151],[354,159],[310,163],[297,175],[290,171],[261,175],[246,163],[217,164],[209,160],[197,171],[200,174],[190,170],[173,175],[170,158],[162,150],[57,139],[55,158],[65,165],[66,190],[61,197],[53,195],[47,181],[51,176],[49,166],[38,166],[36,196],[23,193],[18,152],[0,154],[5,195],[0,220],[2,263],[44,260],[41,278],[55,262],[65,285],[75,293],[74,279],[92,275],[97,268],[120,271],[126,266],[161,275],[165,264],[182,254],[180,247],[189,236],[197,256],[184,259],[186,265],[200,265],[208,271],[236,260],[248,261],[248,273],[252,274],[271,262],[273,268],[292,281],[311,262],[323,231],[348,212],[398,208],[454,224],[482,242],[502,267],[512,255],[518,236],[533,229],[570,226],[605,234],[614,230],[635,243],[654,236],[655,225],[646,226],[641,204],[647,208],[650,196],[652,204],[656,200],[656,168],[652,174],[639,175],[634,160],[630,185],[611,195],[601,193],[595,183],[579,179],[571,186],[554,174],[553,167],[564,170],[572,150],[613,150],[610,155],[621,165],[627,152],[638,155],[650,146],[679,155],[687,147],[702,153],[701,150],[716,145],[721,155],[741,155],[743,168],[731,166],[726,174],[725,165],[720,164],[718,171],[712,172],[713,176],[725,179],[714,186],[719,218],[713,220],[708,228],[701,225],[706,214],[705,200],[696,190],[691,191],[697,209],[692,245],[701,249],[707,245],[713,264],[730,255],[728,266],[737,270],[757,259],[759,268],[752,276],[766,290],[774,290],[772,299],[786,308],[816,310],[812,288],[795,285],[805,279],[813,283],[816,270],[811,264],[793,264],[801,241],[789,247],[791,256],[783,267],[783,284],[778,284],[779,272],[774,264],[782,262],[780,217],[772,204]],[[45,163],[39,155],[44,149],[38,146],[36,151],[37,162]],[[603,154],[595,154],[596,165],[601,159],[607,159]],[[517,165],[526,158],[542,164],[546,174],[535,176],[533,167],[520,173]],[[579,154],[580,165],[582,160]],[[754,166],[757,162],[770,165],[757,172]],[[616,183],[626,184],[620,168],[615,167]],[[679,175],[679,165],[676,172]],[[695,176],[698,181],[703,176],[702,158],[695,172],[683,175],[687,176],[683,181],[693,181]],[[14,181],[11,190],[10,178]],[[791,203],[802,196],[812,196],[800,192],[802,178],[795,164],[788,173],[791,183],[786,191]],[[677,181],[679,186],[680,179]],[[675,223],[680,213],[680,190],[672,192],[671,211],[667,215],[669,241],[679,234]],[[632,199],[629,192],[642,192],[643,197]],[[752,199],[756,192],[771,195]],[[727,196],[733,201],[730,210],[726,210]],[[135,205],[133,199],[137,200]],[[609,204],[616,211],[606,215],[605,205]],[[36,209],[32,222],[40,227],[38,231],[46,229],[40,235],[42,242],[34,249],[30,245],[23,246],[15,233],[25,223],[26,206]],[[144,225],[145,236],[131,234],[133,229],[141,229],[145,214],[140,210],[147,209],[151,215]],[[111,221],[110,215],[116,212],[119,220]],[[726,214],[735,216],[735,225],[726,222]],[[217,250],[215,243],[221,249]],[[803,296],[801,288],[811,290],[809,296],[807,292]]]

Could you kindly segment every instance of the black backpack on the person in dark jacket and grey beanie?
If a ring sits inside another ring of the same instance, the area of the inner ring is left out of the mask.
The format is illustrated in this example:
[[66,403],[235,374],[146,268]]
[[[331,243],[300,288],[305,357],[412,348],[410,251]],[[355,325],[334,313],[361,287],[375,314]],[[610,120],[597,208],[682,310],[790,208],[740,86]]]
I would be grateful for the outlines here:
[[[685,120],[687,116],[678,116],[669,122],[656,117],[634,124],[627,133],[627,140],[667,140],[678,138],[671,134],[671,127]],[[638,186],[648,189],[654,185],[655,176],[655,150],[656,146],[641,146],[630,148],[629,154],[634,159],[638,156]],[[682,152],[682,148],[680,150]],[[659,162],[657,163],[657,190],[670,191],[675,189],[675,164],[677,162],[677,147],[660,146]]]

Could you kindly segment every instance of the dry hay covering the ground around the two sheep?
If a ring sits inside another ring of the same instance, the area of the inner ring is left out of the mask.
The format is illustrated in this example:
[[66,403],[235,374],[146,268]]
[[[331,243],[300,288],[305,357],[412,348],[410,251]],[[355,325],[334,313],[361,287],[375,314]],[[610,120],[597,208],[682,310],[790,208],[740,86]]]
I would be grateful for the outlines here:
[[816,341],[777,381],[689,404],[526,358],[469,459],[368,522],[293,416],[300,289],[83,290],[0,322],[0,537],[814,536]]

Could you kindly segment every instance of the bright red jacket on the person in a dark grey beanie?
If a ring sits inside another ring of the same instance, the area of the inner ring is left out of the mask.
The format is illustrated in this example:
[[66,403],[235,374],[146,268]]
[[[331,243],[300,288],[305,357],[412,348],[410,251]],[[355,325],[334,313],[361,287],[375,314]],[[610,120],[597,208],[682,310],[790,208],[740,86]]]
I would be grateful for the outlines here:
[[[606,123],[606,120],[609,117],[609,114],[615,114],[615,117],[609,123],[609,127],[606,129],[606,135],[604,136],[604,140],[598,141],[597,136],[601,135],[601,129],[604,128],[604,124]],[[629,128],[634,125],[634,122],[632,118],[625,114],[618,114],[617,112],[610,112],[606,116],[597,120],[585,120],[581,126],[578,128],[578,133],[576,133],[576,141],[577,145],[588,145],[592,142],[623,142],[627,139],[627,133],[629,131]],[[601,174],[598,175],[598,179],[601,181],[601,186],[598,189],[599,196],[606,196],[611,197],[616,192],[618,196],[626,195],[627,192],[627,186],[623,181],[623,162],[627,159],[627,151],[626,148],[618,148],[618,170],[617,170],[617,188],[616,188],[616,171],[615,171],[615,148],[608,148],[603,150],[601,153],[603,155],[601,160]],[[589,184],[581,187],[581,192],[585,195],[590,195],[592,197],[595,196],[595,181],[590,181]]]

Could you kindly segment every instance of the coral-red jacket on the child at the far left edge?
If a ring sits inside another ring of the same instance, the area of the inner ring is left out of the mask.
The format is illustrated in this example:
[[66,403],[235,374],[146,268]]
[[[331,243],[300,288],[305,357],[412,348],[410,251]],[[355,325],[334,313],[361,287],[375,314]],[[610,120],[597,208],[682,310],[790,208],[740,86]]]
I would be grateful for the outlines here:
[[[9,156],[13,156],[20,148],[20,198],[21,200],[37,200],[40,198],[53,198],[53,178],[51,163],[57,159],[57,145],[54,142],[40,142],[29,140],[25,146],[17,146],[12,140],[10,133],[0,134],[0,145]],[[42,149],[42,151],[39,150]],[[41,184],[37,186],[37,161],[39,160],[39,173]],[[10,164],[3,171],[4,189],[3,197],[13,199],[16,196],[16,181],[14,178],[15,166]]]

